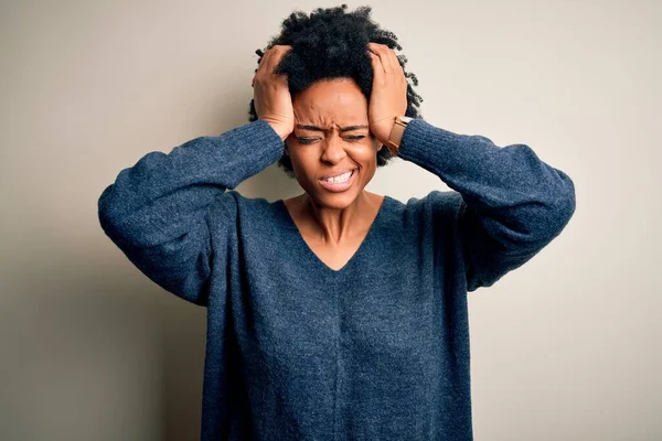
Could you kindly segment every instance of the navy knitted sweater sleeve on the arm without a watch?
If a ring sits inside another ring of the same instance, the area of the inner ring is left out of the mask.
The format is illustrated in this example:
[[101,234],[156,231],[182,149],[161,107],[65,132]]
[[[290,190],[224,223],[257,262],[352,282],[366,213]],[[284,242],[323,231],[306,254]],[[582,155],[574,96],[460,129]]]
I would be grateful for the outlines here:
[[102,193],[102,228],[152,281],[207,305],[212,259],[225,267],[223,248],[236,229],[236,201],[225,191],[277,161],[282,146],[258,119],[147,153]]

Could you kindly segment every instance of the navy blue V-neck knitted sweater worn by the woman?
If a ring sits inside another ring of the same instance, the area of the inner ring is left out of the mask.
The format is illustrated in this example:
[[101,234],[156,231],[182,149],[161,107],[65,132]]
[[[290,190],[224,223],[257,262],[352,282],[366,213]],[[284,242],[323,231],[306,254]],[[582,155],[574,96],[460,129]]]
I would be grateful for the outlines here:
[[385,196],[333,270],[282,200],[235,189],[282,154],[257,120],[147,153],[98,201],[147,277],[207,308],[203,440],[471,440],[467,292],[555,238],[573,181],[525,144],[413,120],[399,157],[451,191]]

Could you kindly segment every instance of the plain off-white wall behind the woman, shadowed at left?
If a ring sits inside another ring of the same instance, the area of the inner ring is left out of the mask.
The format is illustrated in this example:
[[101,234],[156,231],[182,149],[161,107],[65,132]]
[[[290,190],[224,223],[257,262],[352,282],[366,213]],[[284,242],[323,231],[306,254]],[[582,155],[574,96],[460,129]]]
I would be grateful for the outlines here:
[[[132,267],[97,200],[143,154],[246,123],[255,50],[337,4],[1,3],[0,439],[197,439],[206,311]],[[426,120],[576,185],[562,235],[469,294],[476,439],[662,439],[661,3],[370,4]],[[301,192],[275,164],[237,190]],[[448,187],[398,159],[367,190]]]

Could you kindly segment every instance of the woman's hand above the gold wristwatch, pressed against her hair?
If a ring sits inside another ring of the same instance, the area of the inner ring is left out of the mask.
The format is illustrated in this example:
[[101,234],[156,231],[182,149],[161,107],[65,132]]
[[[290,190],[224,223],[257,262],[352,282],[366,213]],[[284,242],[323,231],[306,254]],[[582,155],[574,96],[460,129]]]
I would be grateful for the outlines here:
[[367,120],[370,131],[386,144],[395,117],[407,110],[407,78],[395,52],[385,44],[369,43],[373,66],[373,88]]

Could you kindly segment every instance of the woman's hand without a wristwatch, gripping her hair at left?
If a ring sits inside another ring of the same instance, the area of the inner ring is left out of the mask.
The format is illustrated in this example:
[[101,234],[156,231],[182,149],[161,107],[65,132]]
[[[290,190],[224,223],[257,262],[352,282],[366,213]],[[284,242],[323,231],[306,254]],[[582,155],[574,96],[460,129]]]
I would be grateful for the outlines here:
[[291,46],[274,45],[263,55],[253,77],[255,112],[285,139],[295,130],[295,110],[287,84],[287,75],[274,74]]

